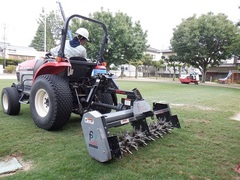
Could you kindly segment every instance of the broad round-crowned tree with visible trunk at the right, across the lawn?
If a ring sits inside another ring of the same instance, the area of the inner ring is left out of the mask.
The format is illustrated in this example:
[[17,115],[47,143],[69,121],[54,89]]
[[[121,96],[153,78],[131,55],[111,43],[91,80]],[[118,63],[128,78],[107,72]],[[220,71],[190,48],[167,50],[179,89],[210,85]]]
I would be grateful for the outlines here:
[[224,14],[209,12],[199,18],[194,15],[174,29],[171,46],[181,62],[201,71],[205,82],[208,66],[218,66],[221,60],[231,57],[237,32]]

